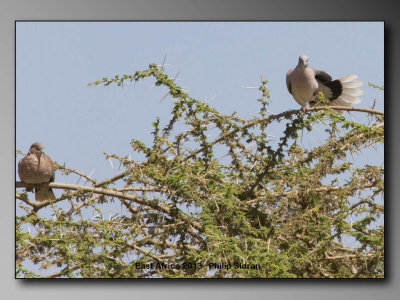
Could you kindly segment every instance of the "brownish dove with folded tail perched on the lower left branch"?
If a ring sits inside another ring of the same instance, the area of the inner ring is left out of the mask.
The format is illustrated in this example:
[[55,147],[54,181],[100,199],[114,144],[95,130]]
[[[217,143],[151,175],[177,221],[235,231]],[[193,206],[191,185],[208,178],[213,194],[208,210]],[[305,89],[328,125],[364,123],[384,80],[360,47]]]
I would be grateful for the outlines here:
[[[18,163],[18,175],[22,182],[41,184],[54,181],[54,164],[50,157],[43,153],[42,143],[33,143],[29,152]],[[35,189],[36,201],[56,199],[53,190],[48,186]]]

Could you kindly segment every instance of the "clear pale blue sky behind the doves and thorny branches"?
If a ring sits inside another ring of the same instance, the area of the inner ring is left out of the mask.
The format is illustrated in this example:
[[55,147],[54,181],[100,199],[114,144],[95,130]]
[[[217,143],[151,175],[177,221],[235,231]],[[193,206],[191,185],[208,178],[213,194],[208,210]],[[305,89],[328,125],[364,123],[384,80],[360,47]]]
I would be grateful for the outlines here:
[[[334,78],[358,74],[358,105],[376,99],[383,110],[383,95],[367,85],[384,85],[383,30],[383,22],[17,22],[16,148],[26,153],[40,141],[53,160],[95,179],[119,173],[103,152],[125,156],[133,138],[151,143],[152,122],[160,116],[166,124],[171,98],[160,103],[166,89],[152,80],[123,88],[88,83],[133,74],[165,56],[167,74],[179,72],[177,83],[192,97],[225,114],[253,117],[260,94],[243,87],[258,87],[260,75],[269,81],[271,112],[299,108],[285,76],[301,54]],[[361,161],[382,162],[383,148]],[[56,181],[77,177],[57,172]]]

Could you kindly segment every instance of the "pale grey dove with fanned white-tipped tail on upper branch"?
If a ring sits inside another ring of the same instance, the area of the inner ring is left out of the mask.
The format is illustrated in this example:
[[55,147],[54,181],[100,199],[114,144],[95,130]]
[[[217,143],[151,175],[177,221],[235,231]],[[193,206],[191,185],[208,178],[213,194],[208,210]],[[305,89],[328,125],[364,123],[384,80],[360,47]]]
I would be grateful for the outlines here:
[[357,75],[347,75],[332,80],[328,73],[309,67],[308,57],[301,55],[296,68],[290,69],[286,74],[286,86],[293,98],[306,111],[307,103],[310,106],[318,105],[317,95],[322,92],[331,106],[351,106],[359,103],[358,96],[363,94],[359,89],[363,85],[361,80],[356,80]]

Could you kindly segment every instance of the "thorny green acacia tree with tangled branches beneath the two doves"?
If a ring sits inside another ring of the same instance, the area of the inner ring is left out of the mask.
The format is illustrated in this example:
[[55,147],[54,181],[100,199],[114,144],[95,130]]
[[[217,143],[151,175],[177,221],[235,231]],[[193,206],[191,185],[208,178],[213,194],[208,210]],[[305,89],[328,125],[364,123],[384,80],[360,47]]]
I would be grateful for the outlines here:
[[[168,88],[174,106],[165,127],[154,121],[151,145],[131,141],[143,159],[106,154],[123,171],[103,180],[55,163],[91,185],[50,183],[64,190],[53,202],[38,203],[17,190],[24,211],[16,217],[17,277],[384,276],[384,227],[377,224],[384,214],[384,168],[353,164],[353,155],[383,144],[382,111],[319,106],[306,114],[270,114],[262,78],[259,114],[244,120],[192,98],[155,64],[89,85],[147,77]],[[369,114],[370,122],[350,121],[336,110]],[[184,129],[176,129],[178,121]],[[301,147],[299,136],[321,124],[324,141]],[[272,138],[278,125],[281,135]],[[67,209],[58,205],[68,202]],[[124,209],[107,218],[102,207],[112,202]],[[88,218],[85,210],[98,214]],[[57,271],[34,272],[27,263]]]

